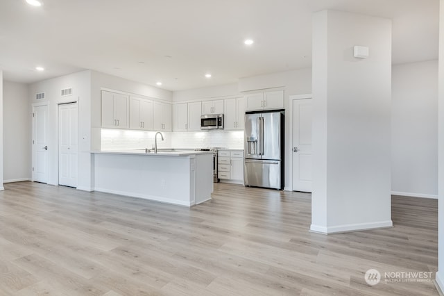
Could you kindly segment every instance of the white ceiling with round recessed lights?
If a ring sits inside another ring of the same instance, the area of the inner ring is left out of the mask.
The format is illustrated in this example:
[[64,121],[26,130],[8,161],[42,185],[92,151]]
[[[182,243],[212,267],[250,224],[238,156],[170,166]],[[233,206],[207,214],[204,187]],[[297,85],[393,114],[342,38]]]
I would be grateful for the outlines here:
[[393,19],[395,64],[438,58],[439,0],[43,1],[40,8],[0,1],[0,69],[8,81],[94,69],[185,90],[310,67],[311,15],[324,9]]

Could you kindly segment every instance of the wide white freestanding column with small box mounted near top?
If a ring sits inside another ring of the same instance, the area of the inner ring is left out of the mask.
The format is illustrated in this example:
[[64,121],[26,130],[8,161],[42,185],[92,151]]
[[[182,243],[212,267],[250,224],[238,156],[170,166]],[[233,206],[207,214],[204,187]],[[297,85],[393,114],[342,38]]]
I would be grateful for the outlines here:
[[312,54],[311,231],[391,227],[391,20],[315,13]]

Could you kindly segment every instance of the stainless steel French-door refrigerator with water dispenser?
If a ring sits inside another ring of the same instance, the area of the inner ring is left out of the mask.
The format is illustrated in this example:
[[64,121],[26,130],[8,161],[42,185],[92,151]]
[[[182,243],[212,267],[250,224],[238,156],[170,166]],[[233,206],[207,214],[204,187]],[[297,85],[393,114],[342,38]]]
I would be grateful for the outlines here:
[[284,189],[284,110],[245,115],[245,186]]

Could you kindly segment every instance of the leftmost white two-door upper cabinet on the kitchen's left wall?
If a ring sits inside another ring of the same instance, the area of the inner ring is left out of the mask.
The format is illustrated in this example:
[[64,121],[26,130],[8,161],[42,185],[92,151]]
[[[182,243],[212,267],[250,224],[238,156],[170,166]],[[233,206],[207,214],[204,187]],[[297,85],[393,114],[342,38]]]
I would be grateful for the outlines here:
[[128,129],[128,101],[125,94],[102,90],[101,125],[104,128]]

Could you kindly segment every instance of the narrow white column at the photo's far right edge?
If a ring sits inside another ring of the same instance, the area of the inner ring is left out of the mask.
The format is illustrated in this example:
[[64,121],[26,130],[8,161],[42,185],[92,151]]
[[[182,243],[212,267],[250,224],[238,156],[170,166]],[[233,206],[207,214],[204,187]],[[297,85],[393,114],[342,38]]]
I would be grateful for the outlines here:
[[444,0],[439,8],[438,65],[438,272],[436,283],[444,291]]

